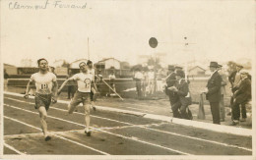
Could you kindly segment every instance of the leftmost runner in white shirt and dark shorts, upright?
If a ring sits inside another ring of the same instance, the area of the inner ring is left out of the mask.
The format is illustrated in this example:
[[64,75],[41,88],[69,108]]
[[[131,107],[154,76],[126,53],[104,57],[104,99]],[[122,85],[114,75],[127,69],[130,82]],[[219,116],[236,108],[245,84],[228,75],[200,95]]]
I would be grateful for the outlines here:
[[49,109],[50,103],[56,103],[56,93],[58,88],[58,83],[56,76],[48,72],[48,62],[44,58],[37,60],[39,67],[39,72],[32,74],[31,80],[29,81],[26,89],[24,98],[29,98],[29,93],[32,84],[35,84],[35,106],[34,108],[38,110],[40,116],[40,125],[42,133],[44,134],[45,141],[51,139],[47,132],[47,110]]

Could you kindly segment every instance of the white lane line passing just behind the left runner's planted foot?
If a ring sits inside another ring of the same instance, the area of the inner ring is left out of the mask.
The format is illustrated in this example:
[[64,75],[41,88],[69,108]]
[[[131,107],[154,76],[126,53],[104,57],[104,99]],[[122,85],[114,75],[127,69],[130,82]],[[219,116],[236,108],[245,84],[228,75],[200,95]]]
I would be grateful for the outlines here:
[[[36,114],[37,114],[37,113],[36,113]],[[5,118],[5,119],[12,120],[12,121],[17,122],[17,123],[20,123],[20,124],[23,124],[23,125],[25,125],[25,126],[31,127],[32,129],[36,129],[36,130],[38,130],[38,131],[41,131],[41,129],[36,128],[36,127],[34,127],[34,126],[30,125],[30,124],[24,123],[24,122],[22,122],[22,121],[19,121],[19,120],[17,120],[17,119],[13,119],[13,118],[10,118],[10,117],[7,117],[7,116],[4,116],[4,118]],[[92,150],[94,150],[94,151],[96,151],[96,152],[98,152],[98,153],[101,153],[101,154],[104,154],[104,155],[110,155],[110,154],[108,154],[108,153],[106,153],[106,152],[97,150],[96,148],[93,148],[93,147],[91,147],[91,146],[87,146],[87,145],[82,144],[82,143],[80,143],[80,142],[77,142],[77,141],[68,139],[68,138],[63,137],[63,136],[61,136],[61,135],[58,135],[58,134],[55,134],[55,133],[51,133],[51,134],[53,134],[54,136],[59,137],[59,138],[61,138],[61,139],[64,139],[64,140],[70,141],[70,142],[72,142],[72,143],[78,144],[78,145],[80,145],[80,146],[83,146],[83,147],[85,147],[85,148],[92,149]]]

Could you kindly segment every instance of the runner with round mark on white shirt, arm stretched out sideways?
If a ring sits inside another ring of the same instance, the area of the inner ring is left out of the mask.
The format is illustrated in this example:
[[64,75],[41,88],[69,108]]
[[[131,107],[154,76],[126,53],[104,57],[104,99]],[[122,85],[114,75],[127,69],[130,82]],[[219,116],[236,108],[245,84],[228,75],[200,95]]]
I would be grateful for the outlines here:
[[75,108],[83,102],[83,106],[85,107],[85,121],[86,121],[86,129],[85,133],[88,136],[91,136],[90,127],[90,103],[91,103],[91,85],[93,80],[93,76],[88,72],[88,66],[85,62],[81,62],[79,64],[79,68],[81,73],[74,75],[72,78],[65,80],[60,88],[58,89],[58,95],[60,94],[62,88],[66,85],[69,80],[76,80],[78,82],[78,90],[75,93],[74,98],[71,100],[68,105],[68,113],[72,114]]

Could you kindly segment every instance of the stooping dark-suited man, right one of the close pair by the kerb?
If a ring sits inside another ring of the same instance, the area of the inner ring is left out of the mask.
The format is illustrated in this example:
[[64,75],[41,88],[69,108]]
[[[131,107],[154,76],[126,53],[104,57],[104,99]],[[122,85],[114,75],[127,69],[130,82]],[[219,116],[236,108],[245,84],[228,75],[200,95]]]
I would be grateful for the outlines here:
[[[189,88],[186,80],[183,79],[184,72],[181,70],[176,71],[176,82],[174,86],[169,87],[169,90],[173,91],[178,95],[178,101],[176,101],[171,109],[173,111],[173,115],[179,115],[182,119],[189,120],[187,114],[187,107],[189,105],[188,96],[189,96]],[[180,111],[180,113],[179,113]]]

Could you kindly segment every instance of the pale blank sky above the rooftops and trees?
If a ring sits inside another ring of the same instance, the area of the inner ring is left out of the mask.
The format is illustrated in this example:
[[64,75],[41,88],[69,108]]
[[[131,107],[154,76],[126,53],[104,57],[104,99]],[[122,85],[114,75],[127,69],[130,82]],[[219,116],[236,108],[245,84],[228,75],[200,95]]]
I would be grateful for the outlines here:
[[[53,63],[114,57],[138,64],[138,55],[166,53],[166,63],[237,61],[255,53],[254,1],[85,1],[60,0],[86,9],[12,9],[15,0],[1,1],[1,59],[19,66],[22,59]],[[46,0],[21,0],[44,5]],[[11,5],[10,5],[11,3]],[[9,8],[11,6],[11,8]],[[149,46],[156,37],[157,48]],[[187,37],[189,45],[184,46]],[[89,45],[88,45],[89,38]],[[89,48],[88,48],[89,46]]]

